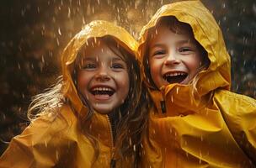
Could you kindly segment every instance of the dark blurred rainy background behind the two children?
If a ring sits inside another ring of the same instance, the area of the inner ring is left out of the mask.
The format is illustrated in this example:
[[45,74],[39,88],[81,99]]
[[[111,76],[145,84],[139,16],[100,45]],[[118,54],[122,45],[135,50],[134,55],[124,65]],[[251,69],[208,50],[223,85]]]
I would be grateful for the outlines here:
[[[84,24],[104,19],[136,38],[166,0],[3,0],[0,3],[0,155],[27,126],[31,97],[61,75],[61,50]],[[202,0],[232,57],[232,91],[256,98],[256,2]]]

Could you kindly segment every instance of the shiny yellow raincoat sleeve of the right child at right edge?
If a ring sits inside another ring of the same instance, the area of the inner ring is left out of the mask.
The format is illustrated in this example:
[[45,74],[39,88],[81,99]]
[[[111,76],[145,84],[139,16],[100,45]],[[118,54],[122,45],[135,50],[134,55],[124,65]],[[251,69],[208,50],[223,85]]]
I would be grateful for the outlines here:
[[228,91],[216,92],[215,102],[237,144],[256,163],[256,101]]

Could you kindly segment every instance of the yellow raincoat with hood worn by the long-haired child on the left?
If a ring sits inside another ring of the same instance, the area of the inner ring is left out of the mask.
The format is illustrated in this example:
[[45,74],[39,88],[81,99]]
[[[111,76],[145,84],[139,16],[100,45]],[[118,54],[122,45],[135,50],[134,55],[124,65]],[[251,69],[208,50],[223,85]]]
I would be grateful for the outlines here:
[[[64,104],[58,109],[57,117],[41,116],[29,124],[22,134],[12,139],[8,149],[0,158],[1,168],[26,167],[91,167],[94,150],[88,137],[81,134],[77,118],[84,118],[88,109],[77,96],[77,89],[72,81],[72,63],[78,50],[89,38],[112,36],[117,43],[131,53],[136,52],[136,40],[125,29],[106,21],[93,21],[83,28],[67,45],[62,56],[61,66],[63,94],[72,105]],[[75,109],[75,110],[74,110]],[[77,113],[75,113],[75,111]],[[110,167],[115,150],[113,135],[108,115],[93,113],[88,126],[89,134],[97,138],[99,158],[93,167]],[[132,167],[132,161],[123,163]],[[120,163],[116,162],[116,167]]]

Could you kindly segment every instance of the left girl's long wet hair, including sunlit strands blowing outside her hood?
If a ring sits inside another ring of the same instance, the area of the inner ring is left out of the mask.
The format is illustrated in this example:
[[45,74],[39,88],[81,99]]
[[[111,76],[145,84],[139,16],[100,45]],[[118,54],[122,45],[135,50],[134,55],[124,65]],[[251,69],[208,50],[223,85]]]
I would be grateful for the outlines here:
[[[116,108],[113,113],[120,113],[120,119],[117,123],[117,132],[115,136],[115,155],[120,155],[120,160],[126,160],[127,158],[132,158],[134,167],[138,166],[139,149],[141,147],[141,134],[147,125],[147,94],[145,87],[141,87],[141,76],[140,76],[140,66],[136,57],[128,49],[119,45],[116,39],[111,36],[104,36],[99,38],[109,49],[112,50],[117,55],[122,55],[128,67],[128,74],[130,79],[130,88],[125,101],[120,107]],[[84,45],[85,46],[85,45]],[[84,46],[81,50],[84,49]],[[80,51],[81,51],[80,50]],[[80,52],[79,52],[80,53]],[[72,74],[72,80],[77,86],[77,68],[79,68],[77,61],[81,59],[81,55],[77,54],[77,59],[74,61],[74,71]],[[54,117],[61,117],[59,109],[63,104],[69,104],[72,108],[72,103],[69,101],[68,97],[65,97],[62,92],[62,87],[64,86],[64,81],[62,76],[55,85],[45,90],[45,92],[32,97],[32,102],[29,105],[27,116],[30,121],[38,118],[42,115],[54,114]],[[88,108],[88,114],[85,118],[79,118],[79,128],[82,134],[85,134],[89,139],[90,143],[93,144],[94,148],[94,160],[93,163],[99,157],[99,144],[96,137],[88,133],[88,125],[93,117],[93,108],[90,103],[83,97],[80,92],[78,96],[83,102],[84,106]],[[75,109],[72,108],[75,112]],[[77,112],[75,112],[77,113]],[[62,117],[63,118],[63,117]],[[63,118],[65,119],[65,118]],[[122,161],[120,161],[122,163]]]

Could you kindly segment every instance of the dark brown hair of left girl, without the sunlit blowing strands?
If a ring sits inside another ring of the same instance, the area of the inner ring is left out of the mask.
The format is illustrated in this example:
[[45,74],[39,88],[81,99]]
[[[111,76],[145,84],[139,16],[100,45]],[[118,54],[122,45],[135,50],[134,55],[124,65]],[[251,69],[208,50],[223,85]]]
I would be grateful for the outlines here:
[[[89,39],[90,40],[90,39]],[[112,113],[119,113],[120,120],[117,123],[116,135],[115,135],[115,154],[120,155],[120,160],[125,160],[127,157],[131,157],[134,160],[134,165],[137,163],[137,157],[139,145],[141,144],[141,133],[146,127],[147,122],[147,101],[146,101],[146,91],[144,87],[141,87],[141,76],[140,76],[140,66],[136,57],[133,53],[125,50],[124,47],[119,45],[119,43],[111,36],[104,36],[103,38],[93,39],[90,42],[97,43],[99,41],[104,42],[110,50],[112,50],[116,55],[121,55],[125,59],[125,63],[128,67],[128,74],[130,79],[130,88],[127,97],[123,104],[119,108],[116,108]],[[87,44],[90,45],[91,43]],[[84,48],[83,48],[84,49]],[[80,50],[81,51],[81,50]],[[83,55],[77,55],[77,60],[83,61]],[[77,62],[76,60],[76,62]],[[79,63],[75,66],[76,71],[79,67]],[[73,75],[73,80],[75,83],[77,79],[76,71]],[[89,106],[86,97],[81,96],[80,98]],[[89,111],[88,118],[81,121],[82,123],[87,122],[91,116],[93,116],[93,110]],[[88,133],[85,134],[88,135]],[[115,134],[115,133],[114,133]],[[99,156],[99,145],[96,139],[88,135],[91,138],[91,143],[95,144],[95,160]]]

